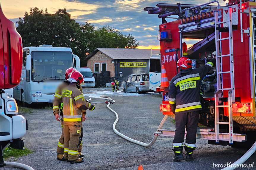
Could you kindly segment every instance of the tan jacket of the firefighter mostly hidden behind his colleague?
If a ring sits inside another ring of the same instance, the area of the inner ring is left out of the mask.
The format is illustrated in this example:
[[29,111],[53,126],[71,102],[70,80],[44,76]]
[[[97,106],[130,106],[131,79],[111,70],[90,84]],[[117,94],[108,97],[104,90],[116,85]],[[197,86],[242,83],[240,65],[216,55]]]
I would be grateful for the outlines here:
[[[61,93],[62,93],[62,90],[65,89],[67,86],[68,86],[68,84],[66,82],[63,82],[58,86],[58,88],[55,92],[54,99],[53,99],[53,114],[54,114],[54,116],[55,116],[55,114],[59,114],[59,108],[61,107],[60,105],[62,103]],[[81,93],[83,93],[81,85],[80,85],[79,90],[81,91]],[[83,112],[83,115],[85,116],[86,111],[82,110],[82,112]]]

